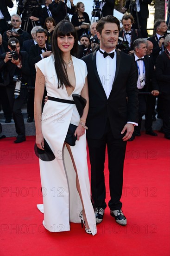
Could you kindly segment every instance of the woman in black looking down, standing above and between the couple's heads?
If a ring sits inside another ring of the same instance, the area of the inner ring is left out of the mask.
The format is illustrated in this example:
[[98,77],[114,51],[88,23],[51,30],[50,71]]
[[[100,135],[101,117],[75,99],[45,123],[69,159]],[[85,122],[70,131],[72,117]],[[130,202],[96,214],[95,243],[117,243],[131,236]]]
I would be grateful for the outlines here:
[[89,25],[82,25],[83,22],[90,24],[88,13],[85,13],[84,10],[84,4],[82,2],[78,2],[76,4],[76,13],[73,14],[71,18],[71,22],[73,23],[77,31],[78,40],[80,39],[81,35],[88,35]]

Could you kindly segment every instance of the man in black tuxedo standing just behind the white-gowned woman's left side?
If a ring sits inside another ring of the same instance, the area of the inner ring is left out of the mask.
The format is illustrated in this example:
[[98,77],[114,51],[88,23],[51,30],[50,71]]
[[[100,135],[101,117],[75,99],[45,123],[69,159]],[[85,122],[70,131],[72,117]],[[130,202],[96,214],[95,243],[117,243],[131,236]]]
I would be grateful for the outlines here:
[[[31,70],[31,86],[35,86],[36,79],[36,69],[35,64],[42,59],[49,57],[51,55],[51,46],[46,44],[47,40],[47,30],[41,28],[36,31],[37,44],[32,45],[29,51],[29,64]],[[44,101],[43,101],[44,102]],[[30,89],[28,93],[27,101],[27,122],[32,122],[34,120],[34,89]]]

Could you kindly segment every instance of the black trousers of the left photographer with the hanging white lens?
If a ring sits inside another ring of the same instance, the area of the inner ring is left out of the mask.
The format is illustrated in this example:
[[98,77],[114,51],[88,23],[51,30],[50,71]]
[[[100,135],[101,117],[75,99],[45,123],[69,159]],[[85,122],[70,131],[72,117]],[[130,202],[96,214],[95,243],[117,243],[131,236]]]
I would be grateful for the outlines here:
[[20,91],[20,95],[17,99],[13,98],[15,86],[6,86],[6,93],[10,103],[10,108],[13,111],[13,121],[15,123],[16,133],[20,137],[25,137],[25,125],[24,117],[22,115],[22,106],[25,101],[26,89]]

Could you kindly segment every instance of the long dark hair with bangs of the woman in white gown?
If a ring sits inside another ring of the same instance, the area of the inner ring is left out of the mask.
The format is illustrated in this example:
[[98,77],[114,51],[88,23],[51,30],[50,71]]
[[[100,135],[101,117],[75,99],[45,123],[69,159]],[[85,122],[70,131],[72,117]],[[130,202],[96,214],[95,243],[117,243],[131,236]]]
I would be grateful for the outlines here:
[[69,20],[62,20],[60,21],[54,29],[52,35],[52,50],[54,54],[54,65],[56,69],[56,74],[58,78],[58,88],[65,87],[72,87],[69,82],[69,78],[67,75],[67,70],[65,67],[65,62],[63,61],[63,53],[58,47],[57,44],[57,37],[59,36],[69,36],[72,35],[75,39],[75,43],[73,48],[71,49],[71,55],[76,55],[78,50],[78,40],[77,40],[77,33],[76,29],[73,24]]

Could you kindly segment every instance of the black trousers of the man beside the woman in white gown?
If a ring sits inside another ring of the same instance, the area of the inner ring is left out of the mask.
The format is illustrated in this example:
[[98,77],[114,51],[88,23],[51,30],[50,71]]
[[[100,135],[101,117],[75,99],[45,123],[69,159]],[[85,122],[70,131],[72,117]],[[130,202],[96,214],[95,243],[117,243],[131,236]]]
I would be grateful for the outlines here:
[[110,201],[108,206],[111,210],[121,209],[122,203],[120,202],[120,198],[123,187],[123,166],[126,141],[115,139],[113,137],[110,122],[108,120],[104,135],[101,139],[95,140],[88,138],[87,140],[91,163],[91,191],[94,206],[101,207],[102,209],[106,208],[104,164],[107,146],[110,187]]

